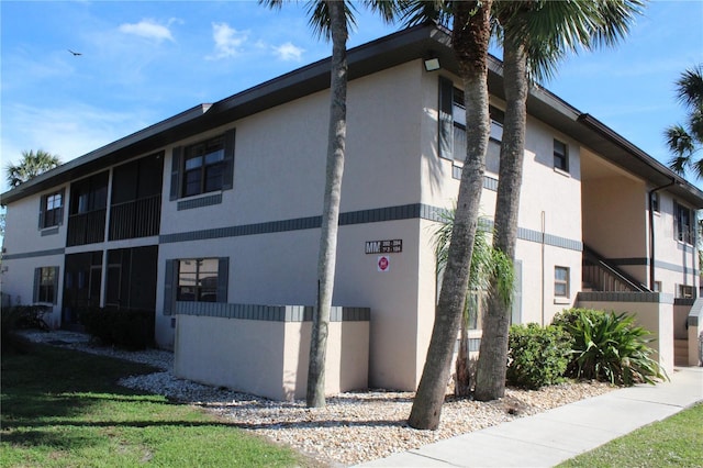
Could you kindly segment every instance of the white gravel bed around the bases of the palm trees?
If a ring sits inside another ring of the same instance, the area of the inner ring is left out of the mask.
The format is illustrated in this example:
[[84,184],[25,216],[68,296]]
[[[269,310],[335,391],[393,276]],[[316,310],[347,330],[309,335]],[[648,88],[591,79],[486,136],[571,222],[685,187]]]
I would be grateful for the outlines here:
[[127,377],[119,383],[199,405],[239,427],[336,466],[382,458],[613,390],[605,383],[580,382],[546,387],[538,391],[506,389],[504,398],[491,402],[458,400],[447,395],[439,428],[417,431],[406,424],[413,392],[346,392],[328,398],[325,409],[308,409],[304,401],[271,401],[177,379],[172,374],[174,355],[170,352],[124,352],[96,346],[86,335],[70,332],[31,332],[25,335],[36,342],[164,369],[156,374]]

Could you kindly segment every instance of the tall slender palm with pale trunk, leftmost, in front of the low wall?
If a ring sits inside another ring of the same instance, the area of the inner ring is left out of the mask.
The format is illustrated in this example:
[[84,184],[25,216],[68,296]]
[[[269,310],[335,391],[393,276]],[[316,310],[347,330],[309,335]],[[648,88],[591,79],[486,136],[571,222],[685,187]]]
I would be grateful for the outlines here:
[[[280,8],[282,0],[259,0],[270,8]],[[395,12],[394,1],[362,1],[372,11],[390,22]],[[337,230],[342,176],[344,174],[345,143],[347,132],[347,38],[349,25],[356,24],[355,7],[348,1],[312,0],[308,2],[310,25],[319,35],[332,40],[332,69],[330,85],[330,125],[327,131],[327,163],[322,211],[320,253],[317,257],[317,307],[313,314],[308,368],[305,402],[309,408],[325,406],[325,360],[327,330],[334,290],[337,256]]]

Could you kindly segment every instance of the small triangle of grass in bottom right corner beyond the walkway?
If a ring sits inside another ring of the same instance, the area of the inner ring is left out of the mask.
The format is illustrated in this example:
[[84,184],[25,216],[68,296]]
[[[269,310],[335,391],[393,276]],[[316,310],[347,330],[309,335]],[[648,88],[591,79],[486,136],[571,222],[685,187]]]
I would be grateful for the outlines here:
[[559,467],[703,467],[703,403],[640,427]]

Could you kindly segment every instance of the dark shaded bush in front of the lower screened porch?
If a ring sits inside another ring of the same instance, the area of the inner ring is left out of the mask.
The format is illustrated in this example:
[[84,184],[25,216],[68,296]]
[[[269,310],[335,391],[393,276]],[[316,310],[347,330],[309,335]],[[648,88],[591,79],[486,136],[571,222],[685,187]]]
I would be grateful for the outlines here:
[[144,349],[153,344],[154,311],[89,308],[79,316],[86,332],[103,345]]

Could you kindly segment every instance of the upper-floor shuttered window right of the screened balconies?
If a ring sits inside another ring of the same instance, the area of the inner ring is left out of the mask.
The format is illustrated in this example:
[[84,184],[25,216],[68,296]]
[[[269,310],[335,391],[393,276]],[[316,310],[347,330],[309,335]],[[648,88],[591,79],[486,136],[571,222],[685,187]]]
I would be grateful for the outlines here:
[[174,148],[170,199],[232,188],[234,130],[214,138]]

